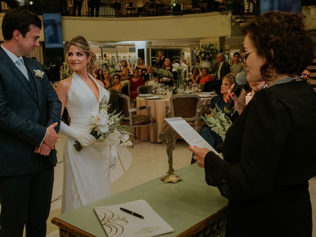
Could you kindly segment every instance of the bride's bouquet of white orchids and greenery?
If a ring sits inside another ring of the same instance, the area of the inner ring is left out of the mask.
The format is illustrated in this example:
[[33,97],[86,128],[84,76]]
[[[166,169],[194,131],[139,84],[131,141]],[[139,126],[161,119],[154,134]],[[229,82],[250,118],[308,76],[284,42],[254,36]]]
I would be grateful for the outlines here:
[[[105,96],[103,96],[99,103],[99,111],[93,111],[90,121],[91,132],[90,134],[97,139],[97,142],[104,142],[107,145],[115,146],[131,146],[132,142],[129,141],[129,135],[133,135],[125,130],[126,126],[119,124],[121,113],[115,115],[115,111],[108,114],[110,105],[106,104]],[[74,147],[77,151],[83,148],[81,144],[76,141]]]

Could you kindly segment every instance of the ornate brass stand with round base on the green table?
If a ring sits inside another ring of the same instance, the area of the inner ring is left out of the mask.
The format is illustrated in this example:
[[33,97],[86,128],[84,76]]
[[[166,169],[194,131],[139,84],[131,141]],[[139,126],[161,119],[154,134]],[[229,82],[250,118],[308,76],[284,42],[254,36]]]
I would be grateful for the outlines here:
[[166,151],[168,155],[169,169],[167,175],[163,176],[161,180],[163,183],[177,183],[182,181],[182,178],[178,175],[175,175],[174,169],[172,167],[172,151],[175,149],[176,142],[178,140],[178,134],[169,126],[168,123],[165,123],[162,128],[163,132],[159,134],[159,139],[167,146]]

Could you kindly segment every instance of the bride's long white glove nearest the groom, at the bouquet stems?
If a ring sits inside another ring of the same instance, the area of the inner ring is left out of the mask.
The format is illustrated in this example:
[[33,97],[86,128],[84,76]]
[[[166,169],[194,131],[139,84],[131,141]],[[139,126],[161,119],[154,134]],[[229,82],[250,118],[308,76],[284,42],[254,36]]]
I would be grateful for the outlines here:
[[95,137],[91,134],[86,132],[79,132],[75,128],[68,126],[63,121],[60,122],[59,131],[67,137],[77,140],[82,147],[89,147],[96,141]]

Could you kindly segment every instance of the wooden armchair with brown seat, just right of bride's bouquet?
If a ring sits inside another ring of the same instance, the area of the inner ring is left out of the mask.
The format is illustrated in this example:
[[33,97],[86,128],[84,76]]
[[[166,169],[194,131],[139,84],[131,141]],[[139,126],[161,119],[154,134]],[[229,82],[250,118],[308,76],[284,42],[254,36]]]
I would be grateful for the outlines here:
[[[154,126],[154,141],[157,143],[157,127],[156,127],[156,118],[153,118],[150,112],[150,106],[141,106],[139,108],[131,108],[130,106],[130,98],[126,95],[119,95],[119,103],[122,108],[122,119],[120,121],[121,125],[127,125],[130,128],[130,132],[136,136],[136,127],[144,127],[153,125]],[[136,112],[138,110],[148,110],[147,115],[137,115]],[[133,143],[132,148],[134,147],[134,136],[131,138],[131,142]]]

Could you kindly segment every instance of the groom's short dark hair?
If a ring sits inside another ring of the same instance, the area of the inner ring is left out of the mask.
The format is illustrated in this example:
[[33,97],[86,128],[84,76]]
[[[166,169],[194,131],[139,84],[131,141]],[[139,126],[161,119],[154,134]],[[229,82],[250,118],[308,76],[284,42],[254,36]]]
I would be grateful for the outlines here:
[[25,37],[30,31],[30,25],[36,25],[41,29],[40,18],[32,12],[22,9],[8,10],[2,19],[2,35],[4,40],[11,40],[13,31],[18,30]]

